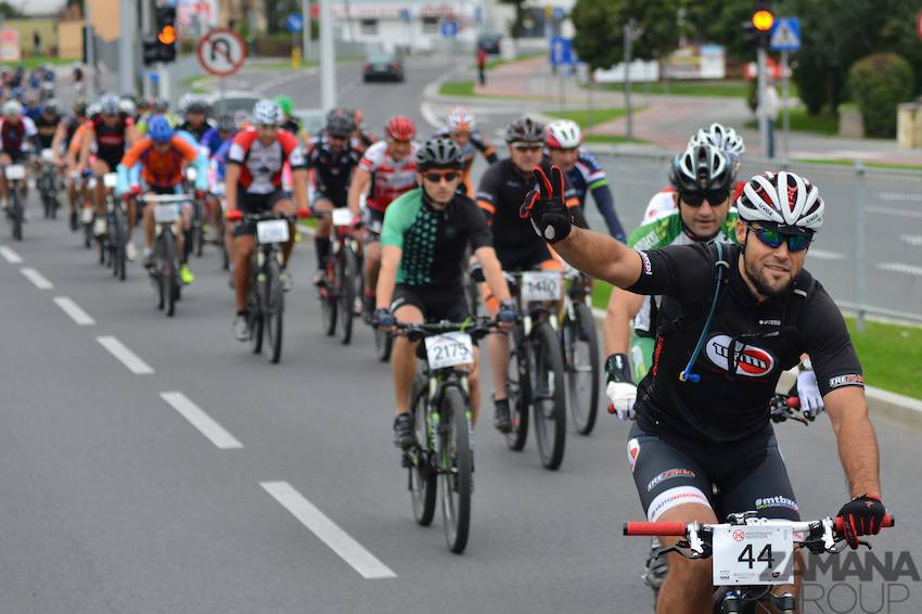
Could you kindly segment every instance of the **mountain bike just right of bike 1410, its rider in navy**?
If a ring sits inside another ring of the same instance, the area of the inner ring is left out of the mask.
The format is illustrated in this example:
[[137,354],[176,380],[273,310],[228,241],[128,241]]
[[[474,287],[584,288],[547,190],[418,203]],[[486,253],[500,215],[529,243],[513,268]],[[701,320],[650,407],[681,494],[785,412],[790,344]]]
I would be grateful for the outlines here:
[[576,269],[564,276],[568,282],[561,312],[561,347],[566,376],[567,401],[574,428],[589,435],[599,410],[599,338],[592,317],[592,278]]

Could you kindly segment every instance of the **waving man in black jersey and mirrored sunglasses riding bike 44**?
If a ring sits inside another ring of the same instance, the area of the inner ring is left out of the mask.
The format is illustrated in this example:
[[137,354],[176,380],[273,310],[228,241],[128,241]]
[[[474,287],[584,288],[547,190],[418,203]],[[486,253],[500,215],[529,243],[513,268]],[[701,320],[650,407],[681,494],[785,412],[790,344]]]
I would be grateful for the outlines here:
[[[541,179],[540,195],[522,207],[539,236],[587,274],[663,295],[627,445],[648,519],[716,523],[753,510],[799,520],[767,407],[781,372],[806,351],[848,481],[850,499],[840,511],[848,545],[880,532],[886,509],[861,364],[838,307],[804,269],[823,222],[819,190],[793,172],[757,175],[737,201],[738,245],[636,251],[573,228],[562,175]],[[629,400],[632,389],[626,393]],[[706,612],[710,597],[710,563],[671,554],[660,611]]]

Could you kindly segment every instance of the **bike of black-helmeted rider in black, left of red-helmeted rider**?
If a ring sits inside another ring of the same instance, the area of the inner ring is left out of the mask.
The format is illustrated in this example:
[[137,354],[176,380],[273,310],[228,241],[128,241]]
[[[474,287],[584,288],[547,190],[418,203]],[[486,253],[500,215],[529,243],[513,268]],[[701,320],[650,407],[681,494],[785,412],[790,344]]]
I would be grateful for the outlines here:
[[[353,319],[356,316],[356,297],[361,297],[361,267],[358,240],[353,235],[353,214],[346,208],[335,208],[331,214],[316,213],[315,217],[331,217],[330,255],[324,264],[326,283],[319,289],[320,314],[323,332],[333,336],[337,328],[340,342],[347,345],[353,338]],[[377,331],[375,331],[377,333]]]

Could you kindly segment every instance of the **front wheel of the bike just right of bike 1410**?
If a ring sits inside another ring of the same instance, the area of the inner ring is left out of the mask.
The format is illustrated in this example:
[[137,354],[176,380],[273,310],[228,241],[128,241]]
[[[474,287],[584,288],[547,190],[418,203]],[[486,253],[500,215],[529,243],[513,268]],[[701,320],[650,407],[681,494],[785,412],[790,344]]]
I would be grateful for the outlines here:
[[567,402],[574,428],[589,435],[599,409],[599,338],[588,305],[575,303],[573,315],[573,319],[567,315],[563,323]]

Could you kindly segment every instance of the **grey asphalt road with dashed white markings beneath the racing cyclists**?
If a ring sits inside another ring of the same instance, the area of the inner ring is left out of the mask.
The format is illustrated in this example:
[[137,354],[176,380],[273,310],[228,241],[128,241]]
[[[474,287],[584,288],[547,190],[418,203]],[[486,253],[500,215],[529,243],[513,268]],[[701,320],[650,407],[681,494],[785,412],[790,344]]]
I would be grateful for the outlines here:
[[[440,519],[412,520],[389,370],[369,330],[349,347],[320,331],[309,242],[292,265],[282,363],[270,366],[232,337],[214,251],[193,261],[197,280],[167,319],[140,266],[116,282],[63,220],[33,219],[16,244],[4,227],[4,612],[649,610],[646,540],[620,536],[641,520],[626,424],[603,413],[590,437],[568,434],[555,473],[534,440],[516,453],[488,420],[477,426],[472,535],[452,555]],[[899,522],[875,552],[918,554],[920,434],[875,426]],[[846,489],[828,420],[778,432],[803,515],[834,513]],[[918,612],[922,585],[901,583],[909,600],[889,611]],[[879,574],[850,584],[884,588]]]

